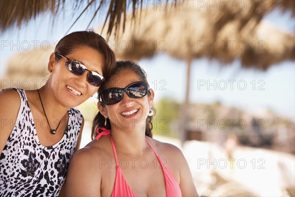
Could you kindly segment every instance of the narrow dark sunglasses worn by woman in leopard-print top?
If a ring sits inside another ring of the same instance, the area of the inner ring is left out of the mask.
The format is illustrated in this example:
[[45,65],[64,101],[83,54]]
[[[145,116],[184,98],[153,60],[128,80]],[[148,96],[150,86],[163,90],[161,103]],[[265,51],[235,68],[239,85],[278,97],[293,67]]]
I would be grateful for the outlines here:
[[[83,74],[87,69],[85,65],[83,65],[81,62],[77,60],[71,60],[65,56],[60,55],[59,53],[55,53],[56,55],[59,55],[60,57],[66,59],[65,66],[66,68],[73,74],[75,75],[81,75]],[[103,76],[98,74],[97,72],[94,71],[89,71],[89,74],[87,76],[87,81],[92,85],[92,86],[100,86],[101,83],[103,82]]]

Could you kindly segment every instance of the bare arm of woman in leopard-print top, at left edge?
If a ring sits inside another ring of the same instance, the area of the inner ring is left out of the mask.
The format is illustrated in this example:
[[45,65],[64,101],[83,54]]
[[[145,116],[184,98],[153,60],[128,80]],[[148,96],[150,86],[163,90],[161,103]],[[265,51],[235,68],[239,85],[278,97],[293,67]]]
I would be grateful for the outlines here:
[[21,105],[19,94],[12,89],[0,92],[0,153],[17,122],[17,115]]

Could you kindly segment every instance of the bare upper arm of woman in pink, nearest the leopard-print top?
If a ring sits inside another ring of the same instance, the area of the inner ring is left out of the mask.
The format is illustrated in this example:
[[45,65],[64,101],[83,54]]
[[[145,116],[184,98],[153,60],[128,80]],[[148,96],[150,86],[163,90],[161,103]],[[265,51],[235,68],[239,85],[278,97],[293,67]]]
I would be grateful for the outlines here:
[[100,197],[101,173],[89,147],[78,150],[70,160],[66,197]]

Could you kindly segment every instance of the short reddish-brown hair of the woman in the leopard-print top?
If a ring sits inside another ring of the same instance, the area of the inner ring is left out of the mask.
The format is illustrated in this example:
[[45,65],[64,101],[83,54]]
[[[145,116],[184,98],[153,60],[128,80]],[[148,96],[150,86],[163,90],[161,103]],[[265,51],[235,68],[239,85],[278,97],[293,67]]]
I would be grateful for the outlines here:
[[[67,34],[59,40],[54,52],[66,56],[74,52],[79,46],[92,48],[103,56],[104,65],[102,68],[102,75],[105,79],[109,78],[116,65],[115,54],[106,40],[93,30]],[[56,61],[60,59],[60,56],[56,56]]]

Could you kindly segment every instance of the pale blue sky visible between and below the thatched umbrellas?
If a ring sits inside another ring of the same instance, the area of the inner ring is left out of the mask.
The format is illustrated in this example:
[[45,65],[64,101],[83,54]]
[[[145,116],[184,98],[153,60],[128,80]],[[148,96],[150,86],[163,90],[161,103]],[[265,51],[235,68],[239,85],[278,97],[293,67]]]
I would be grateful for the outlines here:
[[[3,47],[4,41],[13,44],[28,41],[30,48],[35,40],[38,41],[37,46],[42,41],[55,43],[65,35],[73,23],[72,18],[76,17],[68,16],[68,13],[61,12],[54,25],[51,15],[40,15],[21,30],[13,29],[1,34],[0,75],[4,74],[8,59],[21,51],[17,47]],[[92,23],[98,25],[92,27],[99,27],[103,19],[104,15],[98,16]],[[89,17],[82,17],[69,32],[85,30],[89,20]],[[265,20],[288,32],[295,32],[295,21],[290,12],[274,11]],[[151,88],[155,89],[155,101],[163,97],[184,100],[186,62],[160,53],[151,59],[140,60],[139,64],[146,70]],[[271,109],[278,115],[295,118],[295,62],[283,62],[259,71],[243,69],[238,61],[221,66],[217,61],[198,59],[193,61],[190,83],[191,102],[220,101],[254,112]]]

